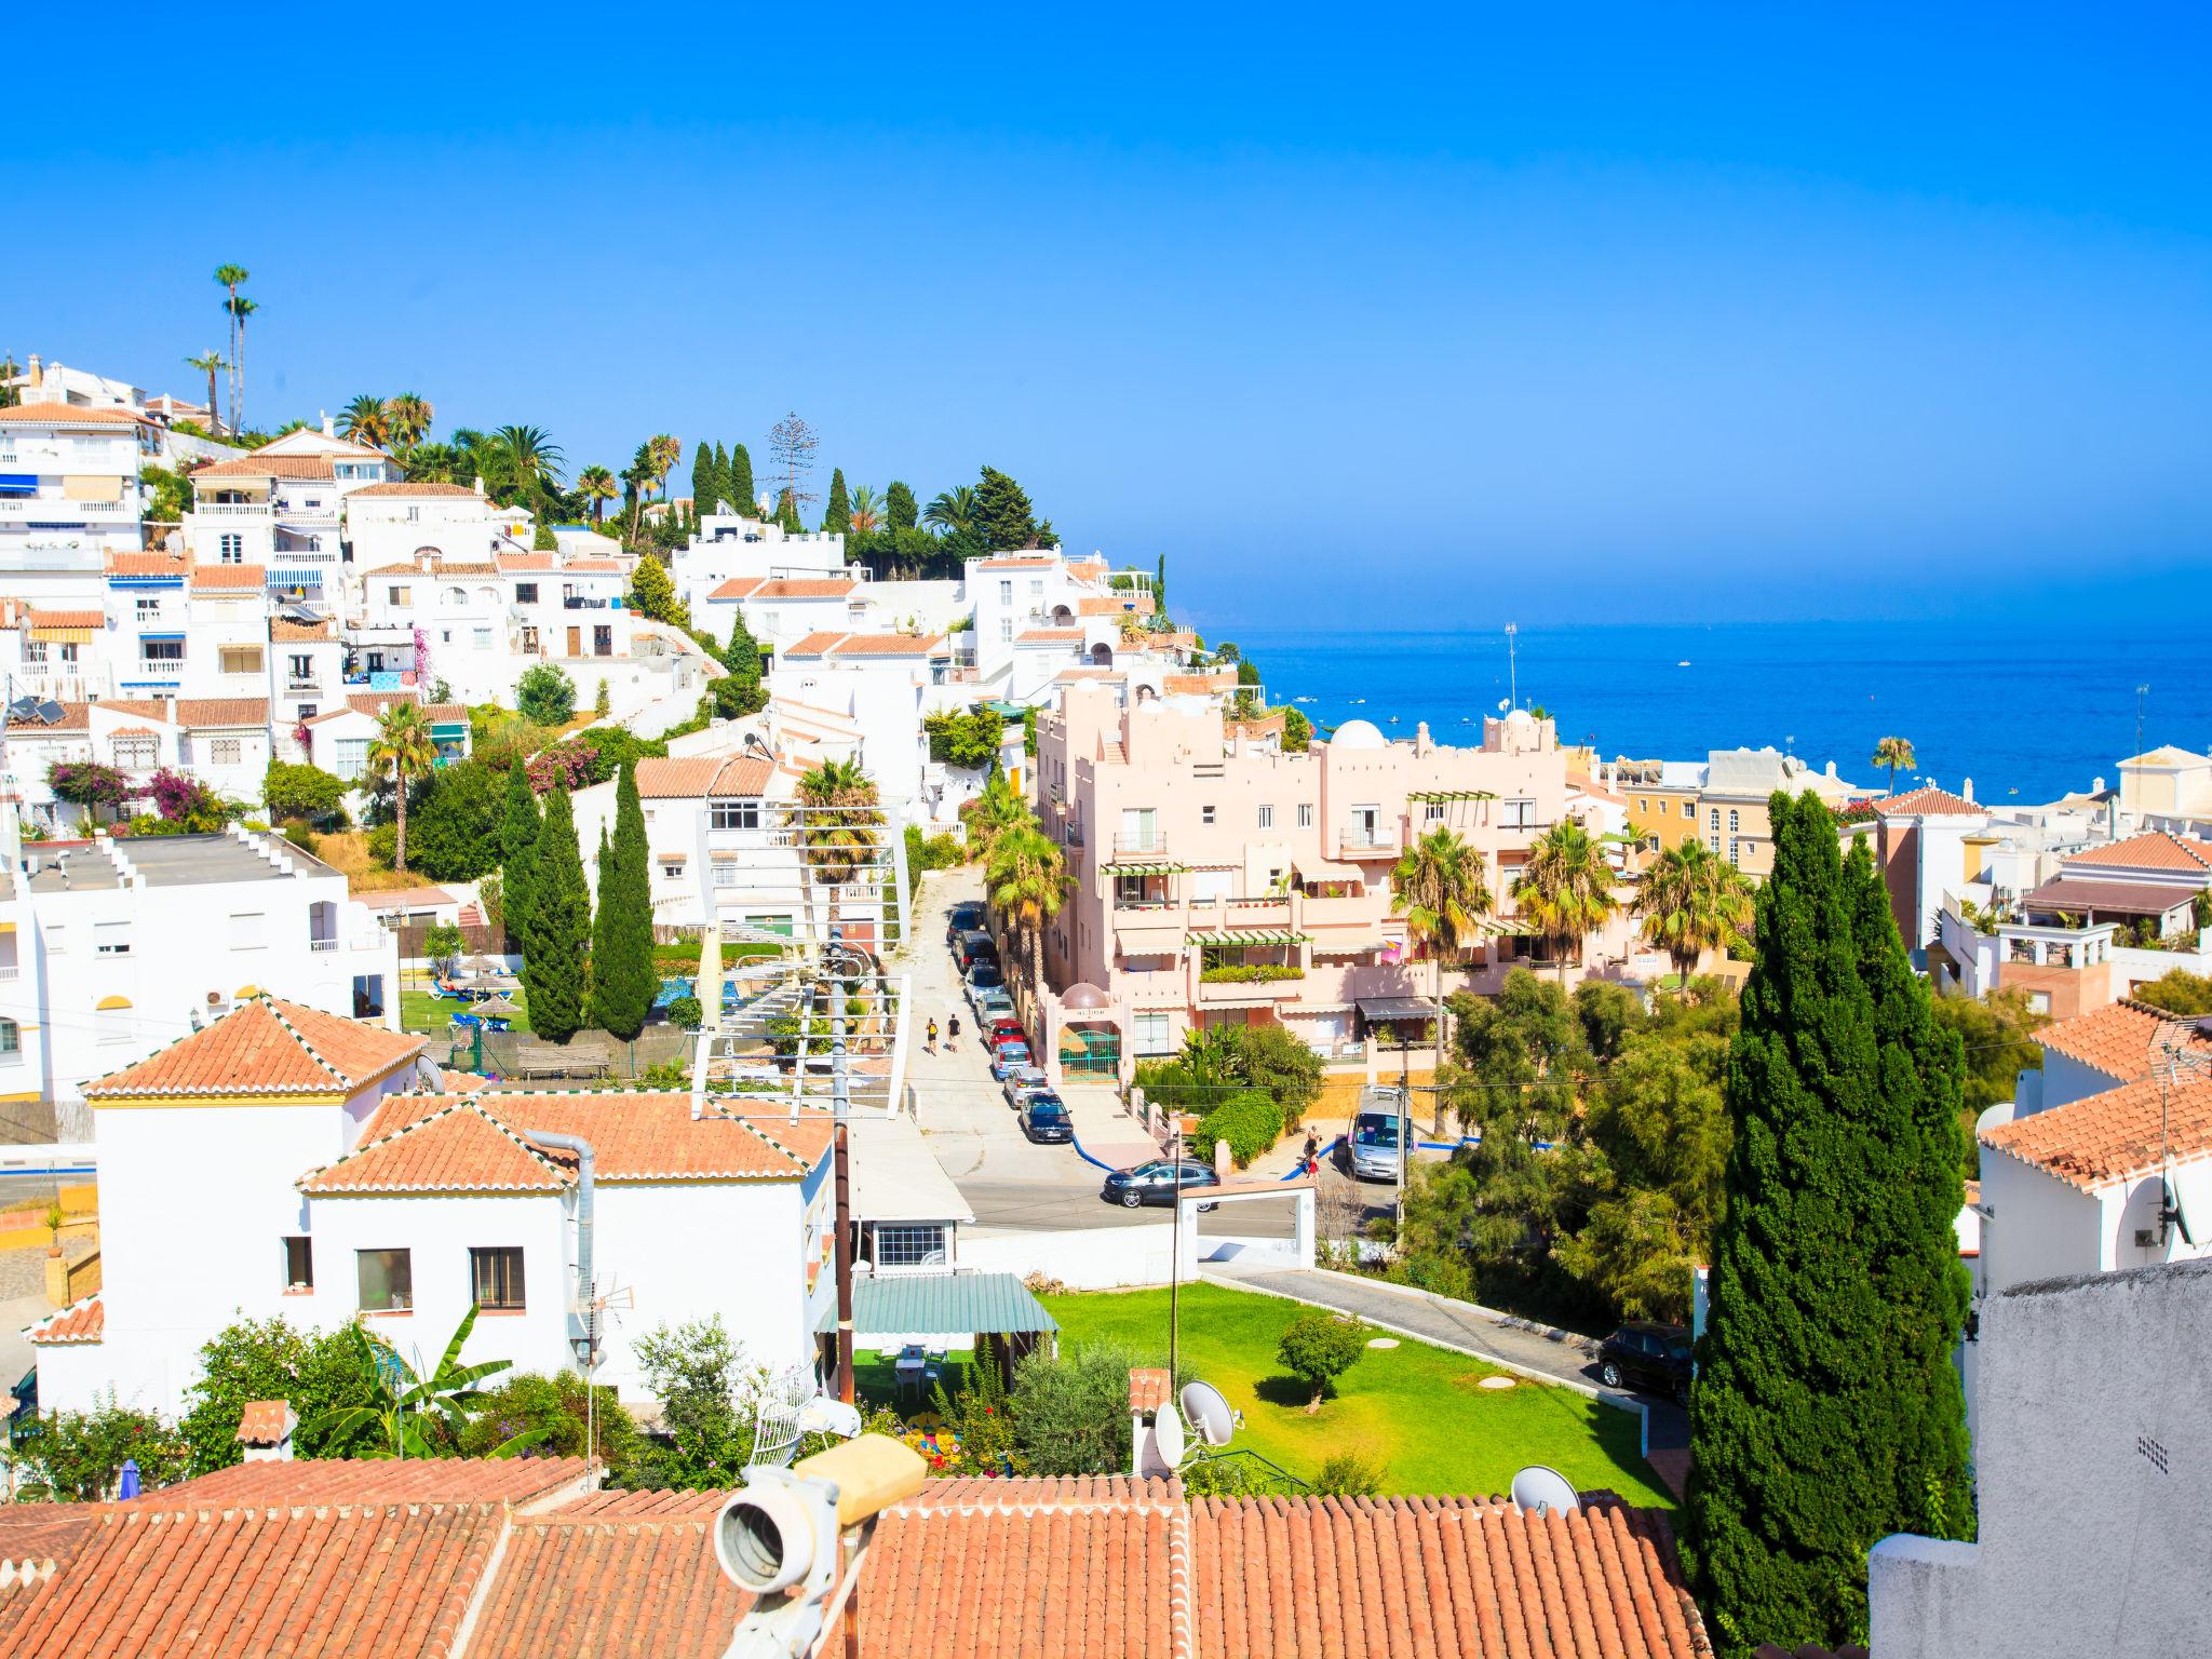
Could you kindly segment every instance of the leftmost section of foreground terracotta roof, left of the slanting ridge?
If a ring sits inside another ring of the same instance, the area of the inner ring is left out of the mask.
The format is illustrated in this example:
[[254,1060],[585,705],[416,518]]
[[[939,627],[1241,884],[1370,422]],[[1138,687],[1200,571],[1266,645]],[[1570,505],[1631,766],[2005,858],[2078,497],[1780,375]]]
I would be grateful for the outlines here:
[[498,1504],[102,1506],[7,1652],[442,1659],[504,1531]]

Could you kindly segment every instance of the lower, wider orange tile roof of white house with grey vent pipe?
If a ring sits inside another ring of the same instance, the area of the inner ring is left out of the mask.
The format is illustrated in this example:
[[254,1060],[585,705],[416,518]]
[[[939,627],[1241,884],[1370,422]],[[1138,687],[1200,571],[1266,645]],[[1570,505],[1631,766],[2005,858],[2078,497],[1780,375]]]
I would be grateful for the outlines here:
[[361,1144],[301,1177],[299,1190],[557,1192],[575,1155],[526,1141],[529,1130],[582,1135],[599,1181],[787,1181],[830,1150],[818,1113],[690,1115],[688,1093],[564,1095],[484,1088],[471,1095],[387,1095]]

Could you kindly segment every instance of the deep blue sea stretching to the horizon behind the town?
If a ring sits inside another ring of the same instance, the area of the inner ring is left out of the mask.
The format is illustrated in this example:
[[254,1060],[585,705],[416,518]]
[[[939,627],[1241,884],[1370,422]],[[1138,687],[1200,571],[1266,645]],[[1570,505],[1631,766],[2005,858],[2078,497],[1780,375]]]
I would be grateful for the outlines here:
[[[1482,717],[1509,697],[1502,630],[1219,637],[1259,666],[1270,701],[1312,699],[1296,706],[1321,728],[1365,717],[1411,737],[1429,721],[1440,743],[1480,743]],[[2119,783],[2143,684],[2143,748],[2212,745],[2212,653],[2185,615],[2132,633],[2064,619],[1524,626],[1515,659],[1520,701],[1542,703],[1562,743],[1588,741],[1608,759],[1699,761],[1772,743],[1878,783],[1874,743],[1898,734],[1913,741],[1920,776],[1944,787],[1973,779],[1982,801],[2051,801],[2097,776]]]

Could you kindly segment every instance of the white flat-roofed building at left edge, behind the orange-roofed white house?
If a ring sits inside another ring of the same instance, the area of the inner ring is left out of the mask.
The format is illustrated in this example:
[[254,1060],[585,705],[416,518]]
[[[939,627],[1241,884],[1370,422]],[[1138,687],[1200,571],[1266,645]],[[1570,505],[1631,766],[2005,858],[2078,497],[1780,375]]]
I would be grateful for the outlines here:
[[265,987],[398,1018],[394,938],[345,876],[276,836],[33,841],[11,891],[0,1015],[40,1040],[7,1095],[75,1102]]

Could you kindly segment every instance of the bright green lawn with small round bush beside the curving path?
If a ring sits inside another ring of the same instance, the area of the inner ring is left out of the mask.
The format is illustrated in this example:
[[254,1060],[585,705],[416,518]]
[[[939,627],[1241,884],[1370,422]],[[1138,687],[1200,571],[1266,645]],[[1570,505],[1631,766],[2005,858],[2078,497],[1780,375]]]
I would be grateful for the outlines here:
[[[1062,1345],[1110,1340],[1139,1363],[1168,1360],[1166,1290],[1046,1296],[1044,1305],[1060,1321]],[[1482,1389],[1484,1376],[1502,1376],[1495,1367],[1409,1338],[1367,1349],[1338,1378],[1336,1396],[1305,1416],[1305,1385],[1274,1358],[1283,1327],[1305,1312],[1281,1296],[1183,1287],[1181,1367],[1243,1411],[1234,1444],[1305,1480],[1325,1458],[1356,1451],[1383,1464],[1387,1493],[1502,1493],[1513,1471],[1542,1462],[1579,1491],[1608,1486],[1630,1504],[1672,1504],[1637,1455],[1632,1413],[1520,1378],[1513,1389]]]

